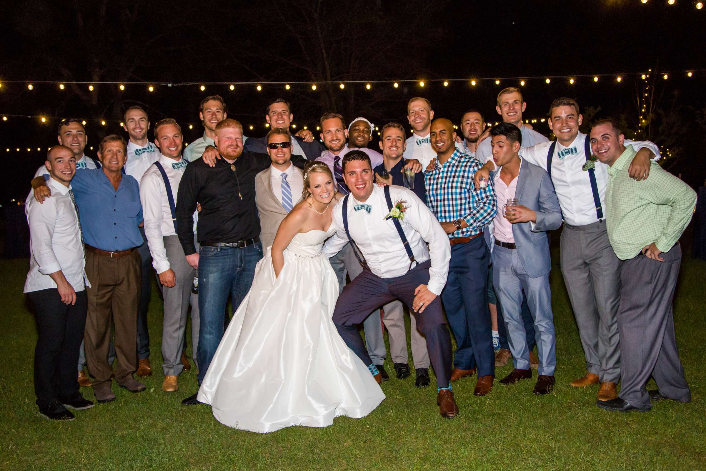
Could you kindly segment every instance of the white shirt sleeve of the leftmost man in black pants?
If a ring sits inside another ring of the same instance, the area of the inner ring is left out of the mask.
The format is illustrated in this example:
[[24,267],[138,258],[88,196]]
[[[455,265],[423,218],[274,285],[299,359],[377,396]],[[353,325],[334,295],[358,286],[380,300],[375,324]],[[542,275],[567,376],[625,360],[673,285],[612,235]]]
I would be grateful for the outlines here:
[[[49,275],[61,270],[61,264],[54,254],[52,237],[58,217],[56,198],[47,198],[44,204],[34,199],[27,209],[27,220],[30,225],[30,249],[42,275]],[[60,247],[57,247],[60,249]]]

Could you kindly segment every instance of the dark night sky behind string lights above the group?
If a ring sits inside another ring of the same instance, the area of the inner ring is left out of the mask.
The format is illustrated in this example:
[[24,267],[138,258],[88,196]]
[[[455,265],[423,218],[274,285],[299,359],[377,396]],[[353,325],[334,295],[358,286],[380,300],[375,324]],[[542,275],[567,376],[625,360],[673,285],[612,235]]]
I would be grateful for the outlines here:
[[[297,129],[315,128],[327,111],[408,127],[405,106],[413,96],[429,98],[436,117],[457,123],[462,112],[477,108],[494,122],[498,91],[524,78],[524,118],[537,119],[537,131],[549,136],[539,120],[551,100],[566,95],[592,120],[622,116],[632,133],[638,129],[635,95],[644,85],[638,74],[650,68],[669,78],[654,85],[661,99],[649,137],[672,146],[676,158],[665,168],[695,186],[706,177],[706,6],[698,10],[695,1],[28,0],[3,8],[0,115],[8,120],[0,121],[0,153],[11,179],[3,184],[2,203],[26,195],[64,117],[87,121],[86,153],[95,157],[103,136],[126,136],[119,122],[133,104],[148,109],[152,123],[177,119],[186,142],[203,133],[198,102],[213,94],[225,98],[229,117],[255,137],[266,132],[266,102],[280,96],[292,103]],[[594,74],[612,75],[594,82]],[[548,76],[567,77],[546,84]],[[505,79],[496,85],[497,78]],[[434,79],[463,80],[444,87]],[[94,90],[70,81],[90,82]],[[264,84],[273,81],[282,84]],[[341,90],[340,81],[362,83]],[[393,88],[393,81],[400,87]],[[419,81],[425,81],[423,88]],[[164,82],[196,85],[155,85]],[[225,84],[206,85],[202,92],[205,82]],[[253,83],[230,90],[234,82]],[[118,83],[126,83],[126,90]],[[261,92],[256,83],[263,83]],[[148,85],[155,91],[148,92]]]

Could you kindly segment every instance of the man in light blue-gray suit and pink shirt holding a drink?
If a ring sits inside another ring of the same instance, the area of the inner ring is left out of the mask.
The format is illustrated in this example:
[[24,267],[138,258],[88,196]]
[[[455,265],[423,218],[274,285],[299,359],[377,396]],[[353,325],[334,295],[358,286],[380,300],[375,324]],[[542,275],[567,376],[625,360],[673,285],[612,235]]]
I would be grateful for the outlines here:
[[491,139],[493,161],[500,168],[492,177],[498,214],[493,220],[493,234],[486,234],[494,239],[493,286],[503,309],[515,366],[500,383],[508,385],[532,378],[521,316],[522,299],[526,296],[538,337],[539,378],[534,393],[547,394],[554,388],[556,335],[546,231],[561,226],[561,208],[549,175],[520,160],[522,133],[517,126],[499,124],[491,129]]

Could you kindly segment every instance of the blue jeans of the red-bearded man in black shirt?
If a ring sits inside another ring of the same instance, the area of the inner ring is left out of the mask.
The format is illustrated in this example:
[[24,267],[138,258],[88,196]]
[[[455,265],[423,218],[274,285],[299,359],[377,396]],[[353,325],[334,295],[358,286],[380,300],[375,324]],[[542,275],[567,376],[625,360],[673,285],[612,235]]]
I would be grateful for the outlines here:
[[262,244],[242,249],[202,246],[198,252],[198,309],[201,324],[198,328],[198,384],[208,371],[211,359],[223,338],[223,313],[232,295],[233,309],[237,310],[250,291],[255,266],[263,258]]

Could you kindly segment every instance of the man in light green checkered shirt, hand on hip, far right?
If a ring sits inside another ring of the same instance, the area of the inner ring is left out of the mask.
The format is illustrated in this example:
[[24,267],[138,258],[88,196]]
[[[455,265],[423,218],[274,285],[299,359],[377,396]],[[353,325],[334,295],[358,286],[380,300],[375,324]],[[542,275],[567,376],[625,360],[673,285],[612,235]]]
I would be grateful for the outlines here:
[[[635,156],[614,121],[591,129],[591,149],[607,164],[606,225],[621,265],[618,333],[621,392],[596,405],[614,412],[652,408],[650,400],[691,400],[674,337],[672,299],[681,263],[678,239],[694,213],[696,193],[656,162],[650,177],[635,181],[628,167]],[[650,376],[657,390],[647,391]]]

